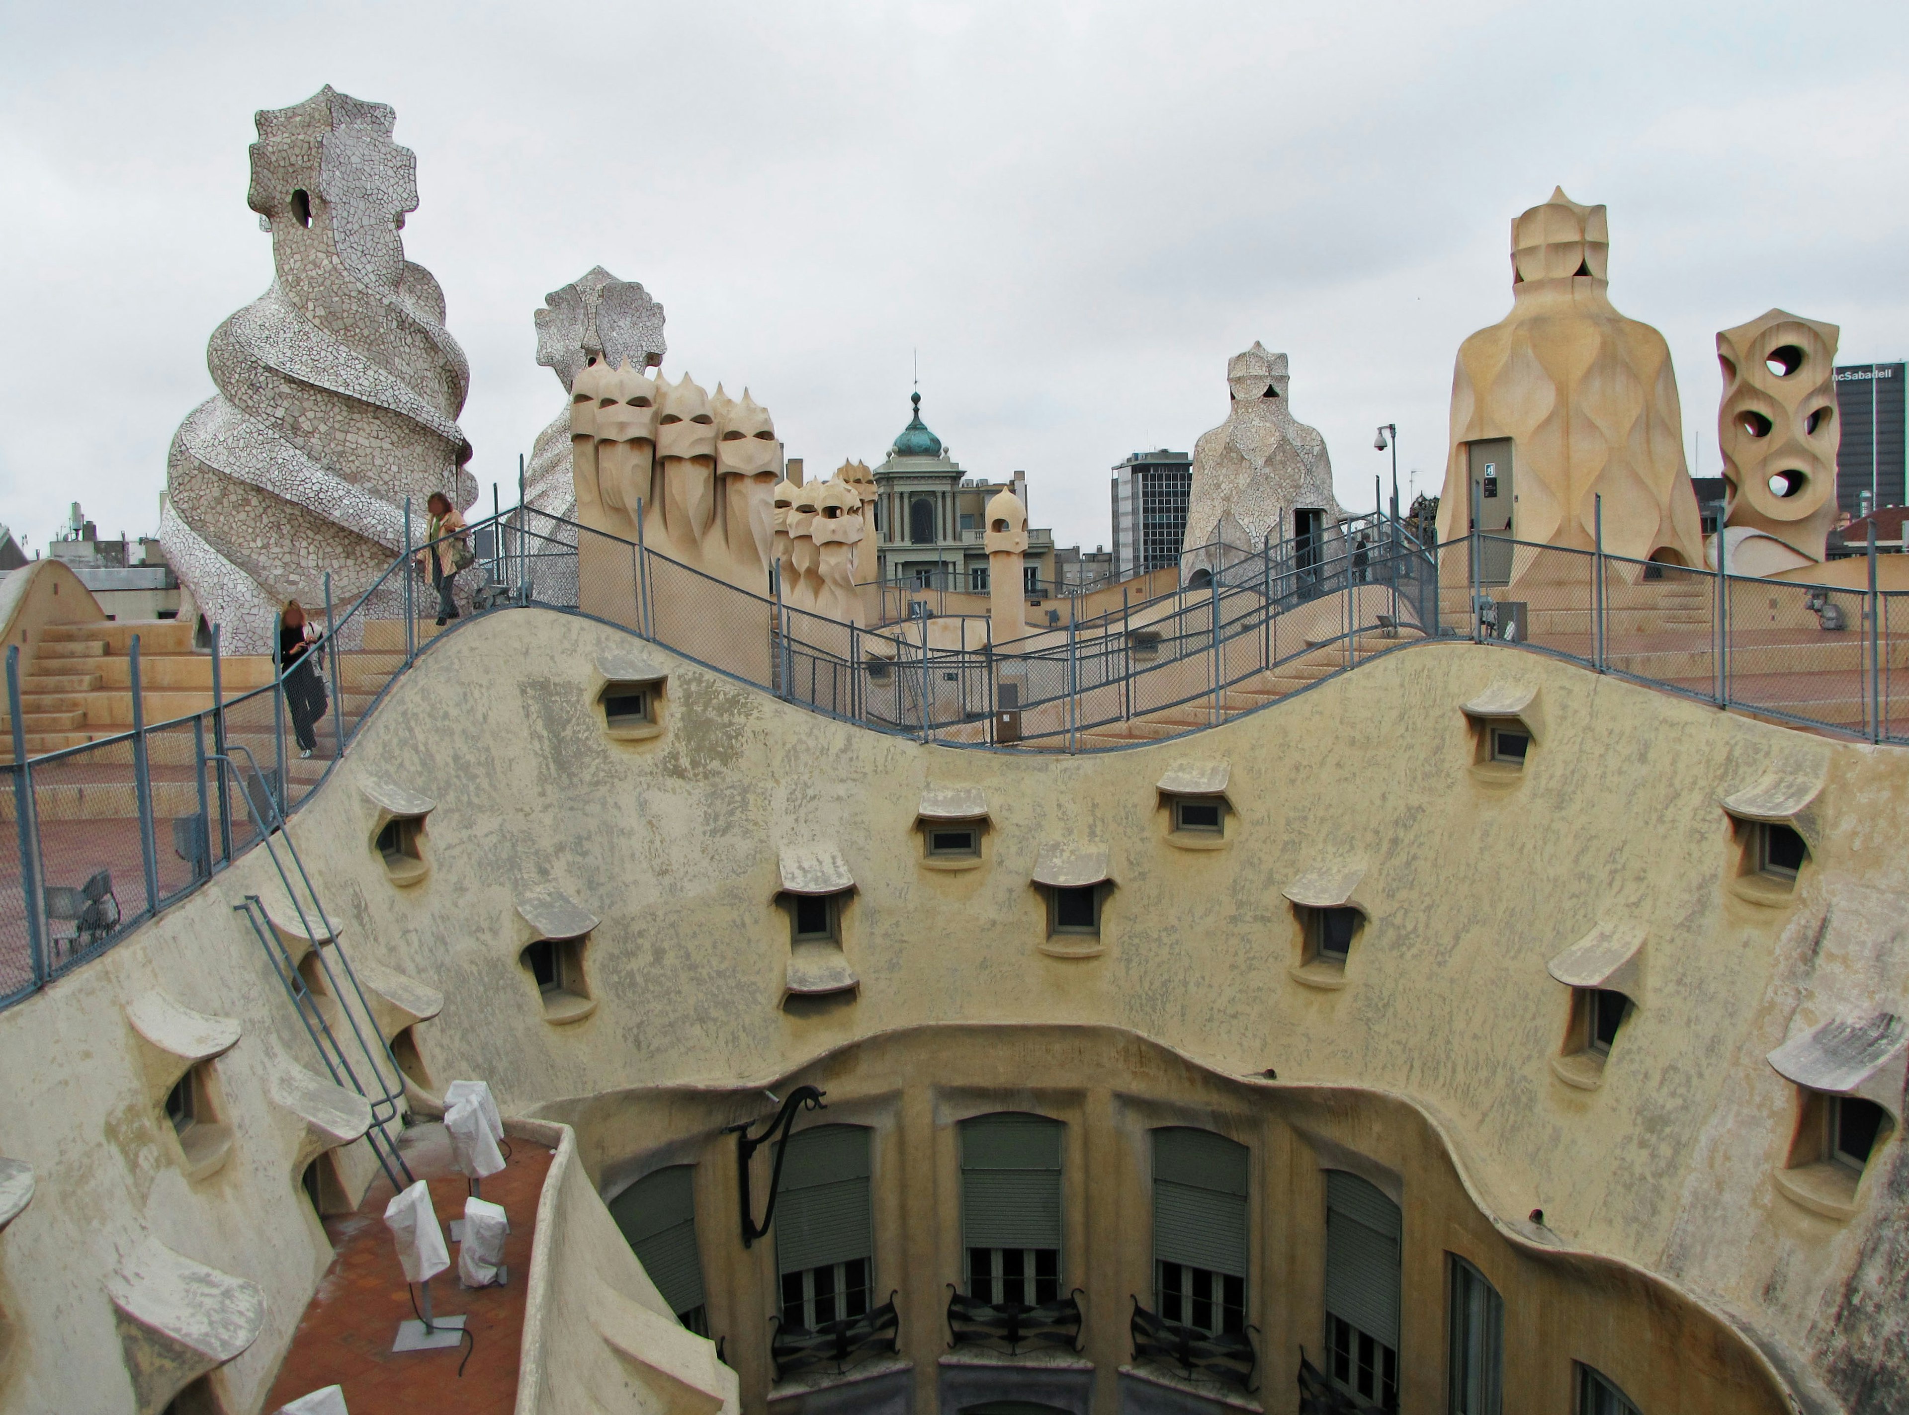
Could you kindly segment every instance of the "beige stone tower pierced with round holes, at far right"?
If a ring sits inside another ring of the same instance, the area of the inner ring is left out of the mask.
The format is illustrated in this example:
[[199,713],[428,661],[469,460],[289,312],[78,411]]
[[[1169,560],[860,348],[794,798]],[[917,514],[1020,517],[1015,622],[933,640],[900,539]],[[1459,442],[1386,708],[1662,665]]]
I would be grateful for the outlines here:
[[[1724,400],[1724,543],[1731,574],[1817,564],[1836,524],[1835,324],[1781,309],[1716,336]],[[1710,564],[1716,564],[1712,538]]]

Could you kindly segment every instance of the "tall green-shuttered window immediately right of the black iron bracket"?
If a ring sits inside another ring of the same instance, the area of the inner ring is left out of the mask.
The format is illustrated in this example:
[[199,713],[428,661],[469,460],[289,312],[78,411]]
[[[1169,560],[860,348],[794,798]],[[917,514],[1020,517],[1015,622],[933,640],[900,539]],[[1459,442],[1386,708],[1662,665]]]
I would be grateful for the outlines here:
[[869,1129],[790,1135],[775,1198],[775,1264],[785,1327],[819,1331],[865,1316],[874,1291]]

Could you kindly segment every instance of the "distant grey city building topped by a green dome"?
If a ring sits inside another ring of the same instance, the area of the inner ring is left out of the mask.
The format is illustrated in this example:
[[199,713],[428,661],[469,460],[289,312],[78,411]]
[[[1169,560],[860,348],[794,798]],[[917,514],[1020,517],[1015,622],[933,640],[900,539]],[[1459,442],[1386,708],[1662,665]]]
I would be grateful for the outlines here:
[[[922,421],[922,395],[914,393],[911,400],[914,416],[874,469],[878,578],[918,589],[985,595],[989,574],[981,534],[987,500],[1010,490],[1025,509],[1027,473],[1016,471],[1004,482],[968,477]],[[1052,530],[1029,526],[1021,580],[1029,593],[1054,585]]]

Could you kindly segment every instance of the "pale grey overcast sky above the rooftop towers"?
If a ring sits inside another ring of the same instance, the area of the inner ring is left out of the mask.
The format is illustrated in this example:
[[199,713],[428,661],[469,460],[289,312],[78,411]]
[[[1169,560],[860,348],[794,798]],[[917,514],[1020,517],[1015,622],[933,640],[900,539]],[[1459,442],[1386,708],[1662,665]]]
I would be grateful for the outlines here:
[[410,259],[472,360],[485,486],[561,406],[531,311],[592,265],[664,370],[746,385],[811,471],[922,412],[1035,524],[1109,540],[1107,469],[1226,416],[1226,360],[1373,503],[1443,477],[1510,219],[1604,202],[1611,297],[1670,339],[1714,475],[1714,334],[1772,305],[1899,359],[1905,8],[1800,4],[0,6],[0,521],[151,532],[214,326],[271,280],[252,114],[332,84],[418,154]]

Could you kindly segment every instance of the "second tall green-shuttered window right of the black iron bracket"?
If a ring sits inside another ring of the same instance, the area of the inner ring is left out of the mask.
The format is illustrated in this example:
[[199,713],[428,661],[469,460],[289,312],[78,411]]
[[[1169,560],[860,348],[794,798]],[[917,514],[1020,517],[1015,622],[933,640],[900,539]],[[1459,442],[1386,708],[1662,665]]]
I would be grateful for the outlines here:
[[1061,1129],[1021,1112],[960,1123],[962,1247],[975,1301],[1059,1301]]

